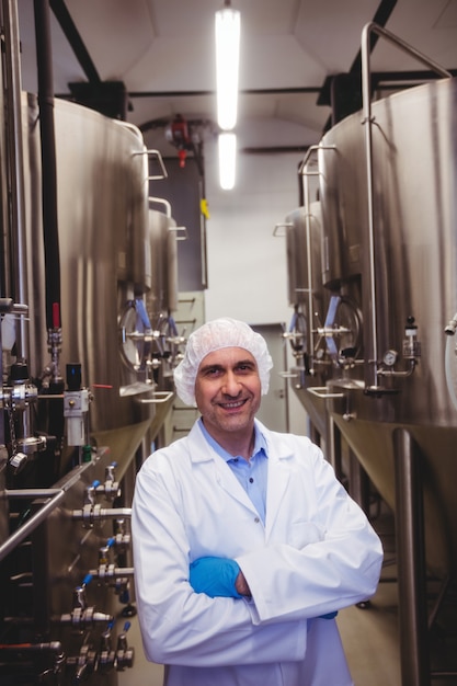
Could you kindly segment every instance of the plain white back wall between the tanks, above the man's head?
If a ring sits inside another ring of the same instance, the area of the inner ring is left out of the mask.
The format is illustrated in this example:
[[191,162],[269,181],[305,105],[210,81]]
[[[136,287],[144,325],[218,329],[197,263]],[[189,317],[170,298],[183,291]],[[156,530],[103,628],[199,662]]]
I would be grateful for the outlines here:
[[205,146],[207,320],[225,315],[252,324],[288,324],[286,244],[273,231],[298,206],[300,160],[300,153],[240,152],[236,187],[221,191],[217,147]]

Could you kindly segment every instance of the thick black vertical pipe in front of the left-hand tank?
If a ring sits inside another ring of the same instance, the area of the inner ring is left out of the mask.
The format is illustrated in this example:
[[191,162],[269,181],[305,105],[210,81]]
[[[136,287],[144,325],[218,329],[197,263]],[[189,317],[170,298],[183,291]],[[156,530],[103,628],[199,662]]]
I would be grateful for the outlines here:
[[60,329],[60,255],[57,224],[57,171],[54,88],[48,0],[34,0],[38,105],[42,139],[43,237],[46,279],[46,324]]

